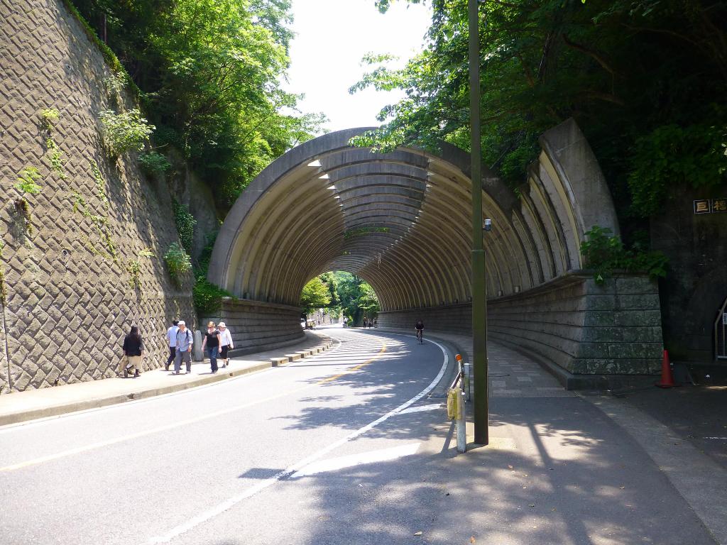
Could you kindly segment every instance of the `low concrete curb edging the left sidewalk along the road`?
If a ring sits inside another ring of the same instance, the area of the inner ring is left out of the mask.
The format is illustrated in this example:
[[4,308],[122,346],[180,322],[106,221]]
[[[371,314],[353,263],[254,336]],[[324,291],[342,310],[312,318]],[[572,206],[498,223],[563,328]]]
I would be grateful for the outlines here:
[[[48,407],[32,409],[30,411],[17,411],[0,414],[0,426],[7,426],[8,424],[18,424],[24,421],[48,418],[51,416],[60,416],[62,414],[76,413],[78,411],[87,411],[92,408],[108,407],[110,405],[126,403],[127,401],[148,399],[150,397],[156,397],[157,395],[182,392],[185,389],[205,386],[206,384],[213,384],[214,382],[220,382],[236,376],[264,371],[265,369],[278,367],[281,365],[285,365],[286,363],[292,363],[293,361],[297,361],[302,358],[310,358],[310,356],[318,355],[321,352],[330,350],[333,345],[333,340],[330,337],[326,336],[324,337],[322,342],[314,345],[313,347],[309,347],[305,350],[300,350],[292,354],[286,354],[283,358],[269,358],[268,360],[260,360],[259,363],[253,363],[252,365],[246,366],[244,368],[235,369],[233,371],[230,371],[229,367],[225,369],[220,369],[220,372],[218,372],[217,374],[199,376],[197,379],[191,380],[190,382],[178,382],[177,384],[169,384],[168,386],[140,389],[135,392],[109,395],[108,397],[93,397],[91,399],[76,401],[73,403],[63,403],[60,405],[50,405]],[[22,395],[22,392],[19,393],[20,395]]]

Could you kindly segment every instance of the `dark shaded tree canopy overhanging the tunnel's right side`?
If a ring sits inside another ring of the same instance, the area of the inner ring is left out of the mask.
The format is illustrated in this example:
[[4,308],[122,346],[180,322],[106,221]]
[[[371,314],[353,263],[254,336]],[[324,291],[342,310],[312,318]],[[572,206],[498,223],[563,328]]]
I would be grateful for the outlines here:
[[[378,0],[386,11],[393,0]],[[419,0],[409,0],[417,3]],[[350,92],[400,88],[360,145],[469,149],[467,0],[433,0],[427,44],[405,68],[369,56]],[[513,187],[537,137],[573,117],[622,223],[670,190],[726,181],[727,5],[701,0],[488,0],[480,7],[483,161]]]

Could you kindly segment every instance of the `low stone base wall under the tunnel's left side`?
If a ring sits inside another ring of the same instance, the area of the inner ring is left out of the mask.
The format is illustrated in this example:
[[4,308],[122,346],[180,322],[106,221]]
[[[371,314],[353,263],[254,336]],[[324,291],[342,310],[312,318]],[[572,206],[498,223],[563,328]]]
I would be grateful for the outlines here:
[[300,309],[284,304],[223,299],[220,312],[203,320],[225,322],[232,334],[233,355],[249,354],[300,342]]

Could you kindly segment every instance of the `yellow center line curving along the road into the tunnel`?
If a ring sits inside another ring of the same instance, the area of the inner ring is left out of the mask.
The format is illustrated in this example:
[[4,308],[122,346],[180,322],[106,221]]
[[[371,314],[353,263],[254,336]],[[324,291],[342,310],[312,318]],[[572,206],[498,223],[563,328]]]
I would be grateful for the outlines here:
[[268,397],[264,397],[257,401],[251,401],[250,403],[244,403],[243,405],[236,405],[234,407],[222,409],[220,411],[214,411],[214,413],[207,413],[203,416],[197,416],[196,418],[193,418],[193,419],[174,422],[174,424],[166,424],[165,426],[158,426],[156,428],[148,429],[145,432],[137,432],[137,433],[132,433],[129,435],[122,435],[121,437],[116,437],[115,439],[100,441],[99,443],[91,443],[90,445],[84,445],[82,447],[71,448],[68,451],[62,451],[62,452],[55,453],[55,454],[49,454],[48,456],[41,456],[40,458],[36,458],[33,460],[23,461],[23,462],[20,462],[19,464],[12,464],[9,466],[0,467],[0,472],[10,472],[10,471],[14,471],[15,469],[22,469],[23,467],[35,466],[38,464],[43,464],[44,462],[47,462],[47,461],[53,461],[53,460],[65,458],[66,456],[73,456],[73,454],[79,454],[82,452],[92,451],[97,448],[103,448],[103,447],[107,447],[110,445],[116,445],[117,443],[123,443],[124,441],[138,439],[139,437],[144,437],[145,435],[152,435],[154,433],[166,432],[166,431],[169,431],[170,429],[187,426],[189,424],[196,424],[197,422],[211,419],[211,418],[214,418],[215,416],[222,416],[223,414],[233,413],[235,411],[239,411],[240,409],[252,407],[252,405],[258,405],[260,403],[266,403],[268,401],[276,400],[276,399],[279,399],[280,397],[285,397],[286,395],[291,395],[296,392],[300,392],[304,389],[316,387],[319,384],[324,384],[325,382],[332,382],[335,379],[339,379],[342,376],[353,373],[353,371],[357,371],[358,369],[360,369],[364,366],[367,366],[367,365],[369,365],[369,363],[372,363],[375,360],[379,359],[385,351],[386,351],[386,344],[383,345],[382,349],[379,350],[379,353],[377,355],[375,355],[374,358],[371,358],[370,360],[366,360],[364,363],[361,363],[358,366],[352,367],[352,368],[348,369],[348,371],[345,371],[344,373],[337,374],[334,376],[329,376],[329,378],[327,378],[327,379],[322,379],[322,380],[319,380],[318,382],[314,382],[313,384],[307,384],[300,388],[294,388],[292,390],[289,390],[288,392],[284,392],[284,393],[277,394],[277,395],[270,395]]

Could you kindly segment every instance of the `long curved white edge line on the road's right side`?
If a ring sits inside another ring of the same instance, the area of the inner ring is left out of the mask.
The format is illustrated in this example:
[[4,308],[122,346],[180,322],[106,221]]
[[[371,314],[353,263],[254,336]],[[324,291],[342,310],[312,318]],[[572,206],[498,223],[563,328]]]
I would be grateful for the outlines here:
[[[411,336],[411,335],[408,335]],[[427,339],[428,340],[428,339]],[[444,355],[444,361],[442,363],[442,366],[439,370],[439,373],[435,377],[435,379],[427,386],[425,389],[423,389],[421,392],[419,392],[417,395],[412,397],[409,401],[406,401],[406,403],[402,403],[397,408],[393,409],[392,411],[389,411],[384,416],[379,417],[378,419],[374,420],[370,424],[366,424],[366,426],[357,429],[355,432],[351,432],[350,434],[346,435],[345,437],[342,437],[341,439],[335,441],[334,443],[331,443],[325,448],[321,448],[320,451],[311,454],[307,458],[304,458],[300,461],[298,461],[296,464],[293,464],[292,466],[288,467],[287,469],[282,470],[281,472],[276,473],[276,475],[273,475],[273,477],[269,477],[268,479],[260,481],[260,483],[257,483],[257,485],[254,485],[250,488],[248,488],[246,491],[243,491],[239,493],[237,496],[233,496],[232,498],[229,498],[226,501],[223,501],[221,504],[217,504],[216,506],[212,507],[212,509],[208,509],[205,512],[202,512],[196,517],[190,518],[187,522],[183,522],[182,524],[176,526],[175,528],[172,528],[172,530],[169,530],[169,532],[165,533],[163,536],[155,536],[153,538],[150,538],[149,541],[147,541],[147,544],[158,544],[158,543],[169,543],[169,541],[172,541],[177,536],[181,536],[182,533],[188,532],[192,528],[195,528],[198,525],[201,525],[204,522],[207,522],[208,520],[212,520],[214,517],[217,517],[218,514],[222,514],[223,512],[227,511],[233,506],[236,506],[236,504],[240,503],[246,498],[250,498],[251,496],[254,496],[258,492],[265,490],[265,488],[268,488],[270,485],[274,485],[279,480],[284,479],[286,477],[290,477],[295,472],[299,471],[300,469],[308,466],[308,464],[312,464],[314,461],[321,459],[323,456],[326,456],[329,452],[333,451],[334,449],[340,447],[341,445],[344,445],[345,443],[348,443],[348,441],[352,439],[356,439],[359,435],[363,435],[364,433],[368,432],[371,429],[374,429],[374,427],[377,427],[382,422],[390,419],[395,414],[401,413],[401,411],[405,410],[406,408],[409,408],[411,405],[414,405],[414,403],[417,403],[422,397],[427,395],[429,392],[431,392],[434,387],[439,384],[439,381],[444,376],[444,371],[446,371],[447,365],[449,364],[449,356],[447,355],[447,351],[444,349],[444,347],[439,344],[438,342],[429,341],[432,344],[436,344],[439,347],[439,350],[442,351],[442,354]]]

